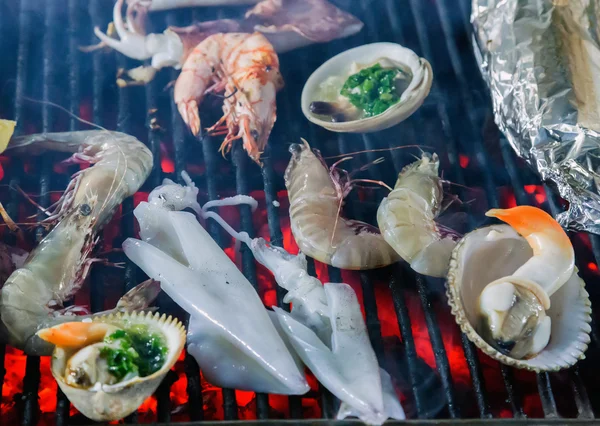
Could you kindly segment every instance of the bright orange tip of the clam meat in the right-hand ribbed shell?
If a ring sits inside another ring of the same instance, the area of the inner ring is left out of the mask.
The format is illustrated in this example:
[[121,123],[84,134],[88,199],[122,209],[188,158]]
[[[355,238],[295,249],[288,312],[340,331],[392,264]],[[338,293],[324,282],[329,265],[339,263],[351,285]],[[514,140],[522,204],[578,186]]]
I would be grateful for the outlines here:
[[543,234],[559,247],[573,250],[569,237],[559,223],[548,213],[536,207],[517,206],[510,209],[491,209],[485,215],[500,219],[512,226],[530,243],[535,254],[542,248],[534,234]]

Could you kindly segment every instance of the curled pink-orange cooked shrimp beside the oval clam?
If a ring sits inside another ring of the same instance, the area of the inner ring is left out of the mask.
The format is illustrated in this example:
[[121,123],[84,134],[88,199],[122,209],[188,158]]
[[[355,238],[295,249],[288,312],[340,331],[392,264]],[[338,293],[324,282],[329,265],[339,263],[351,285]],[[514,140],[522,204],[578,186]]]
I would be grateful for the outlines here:
[[223,117],[209,130],[225,134],[221,151],[242,139],[257,163],[276,119],[275,94],[283,87],[279,59],[260,33],[214,34],[185,61],[175,83],[175,103],[194,135],[200,133],[198,106],[209,92],[225,90]]

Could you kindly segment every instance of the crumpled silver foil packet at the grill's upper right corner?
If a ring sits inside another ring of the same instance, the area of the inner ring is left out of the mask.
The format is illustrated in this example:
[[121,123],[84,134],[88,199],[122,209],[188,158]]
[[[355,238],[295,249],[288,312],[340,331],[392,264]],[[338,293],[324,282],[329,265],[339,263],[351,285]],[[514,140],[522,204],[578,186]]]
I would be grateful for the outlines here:
[[563,226],[600,234],[600,0],[473,0],[496,123],[569,201]]

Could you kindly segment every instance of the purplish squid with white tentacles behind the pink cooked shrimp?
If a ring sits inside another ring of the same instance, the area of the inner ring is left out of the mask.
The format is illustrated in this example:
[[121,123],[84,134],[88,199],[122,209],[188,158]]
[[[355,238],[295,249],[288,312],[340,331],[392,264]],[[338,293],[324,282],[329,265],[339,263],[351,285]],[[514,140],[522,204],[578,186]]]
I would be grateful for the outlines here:
[[[169,27],[162,34],[145,34],[144,12],[166,2],[132,1],[123,21],[123,0],[113,9],[114,29],[119,39],[94,29],[102,45],[137,60],[151,59],[153,68],[181,68],[193,49],[216,33],[261,32],[278,53],[312,43],[325,43],[359,32],[363,23],[326,0],[264,0],[250,9],[244,19],[196,22],[187,27]],[[142,22],[140,22],[142,21]]]

